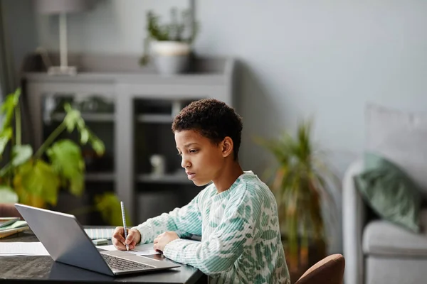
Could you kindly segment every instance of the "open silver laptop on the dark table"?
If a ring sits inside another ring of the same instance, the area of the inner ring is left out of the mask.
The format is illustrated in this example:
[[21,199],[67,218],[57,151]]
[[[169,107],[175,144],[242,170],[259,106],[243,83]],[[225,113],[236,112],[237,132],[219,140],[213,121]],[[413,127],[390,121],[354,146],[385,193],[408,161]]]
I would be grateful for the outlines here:
[[75,216],[23,204],[15,207],[54,261],[111,276],[179,267],[127,251],[98,251]]

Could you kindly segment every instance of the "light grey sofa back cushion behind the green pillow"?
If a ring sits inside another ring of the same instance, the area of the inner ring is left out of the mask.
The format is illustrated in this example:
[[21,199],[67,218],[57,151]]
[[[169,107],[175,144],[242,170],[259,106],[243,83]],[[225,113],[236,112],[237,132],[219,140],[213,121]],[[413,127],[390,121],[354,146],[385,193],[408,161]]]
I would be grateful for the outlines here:
[[365,150],[399,165],[427,197],[427,113],[410,114],[368,104]]

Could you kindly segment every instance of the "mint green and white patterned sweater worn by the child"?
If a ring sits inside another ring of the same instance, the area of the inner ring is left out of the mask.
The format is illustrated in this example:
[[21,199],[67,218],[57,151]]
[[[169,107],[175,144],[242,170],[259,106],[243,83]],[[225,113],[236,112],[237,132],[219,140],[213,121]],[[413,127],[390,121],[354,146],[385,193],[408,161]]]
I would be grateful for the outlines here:
[[201,235],[201,242],[171,241],[163,254],[199,268],[210,283],[290,283],[275,197],[251,171],[225,192],[211,184],[186,206],[134,228],[141,244],[164,231]]

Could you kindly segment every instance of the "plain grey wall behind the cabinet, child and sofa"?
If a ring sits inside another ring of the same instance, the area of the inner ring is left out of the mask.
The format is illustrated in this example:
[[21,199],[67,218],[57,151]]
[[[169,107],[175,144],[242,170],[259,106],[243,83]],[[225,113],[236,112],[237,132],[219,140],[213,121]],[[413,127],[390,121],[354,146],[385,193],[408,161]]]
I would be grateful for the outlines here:
[[[94,11],[70,16],[70,50],[142,53],[144,10],[172,3],[99,1]],[[243,62],[244,168],[261,174],[271,163],[251,136],[273,137],[314,116],[315,139],[342,175],[363,150],[365,103],[425,111],[426,14],[423,0],[197,1],[196,52]],[[57,45],[52,18],[38,19],[38,33],[41,45]],[[332,252],[341,251],[335,234]]]

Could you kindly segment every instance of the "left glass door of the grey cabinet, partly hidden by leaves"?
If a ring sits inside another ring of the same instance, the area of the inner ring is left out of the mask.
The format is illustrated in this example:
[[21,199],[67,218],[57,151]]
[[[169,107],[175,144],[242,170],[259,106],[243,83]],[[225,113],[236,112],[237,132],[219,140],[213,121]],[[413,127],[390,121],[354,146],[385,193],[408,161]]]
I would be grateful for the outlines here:
[[[65,104],[80,111],[86,126],[105,145],[105,153],[98,156],[90,144],[80,144],[80,134],[63,131],[58,139],[68,138],[82,149],[85,162],[85,191],[83,196],[75,197],[68,190],[61,190],[57,209],[60,212],[75,214],[85,225],[105,224],[100,214],[93,210],[95,195],[115,192],[115,104],[112,95],[91,93],[45,93],[41,99],[42,139],[46,139],[63,123]],[[92,207],[92,209],[90,209]]]

